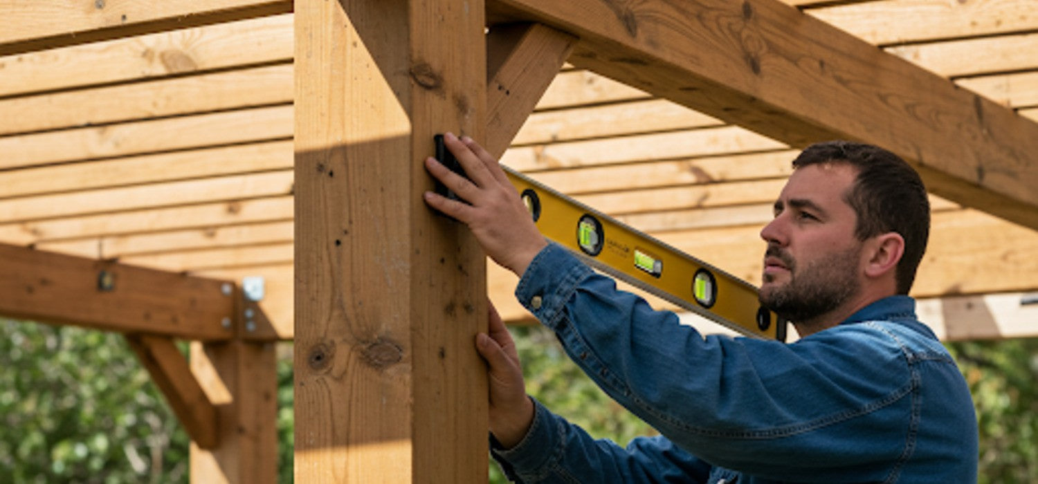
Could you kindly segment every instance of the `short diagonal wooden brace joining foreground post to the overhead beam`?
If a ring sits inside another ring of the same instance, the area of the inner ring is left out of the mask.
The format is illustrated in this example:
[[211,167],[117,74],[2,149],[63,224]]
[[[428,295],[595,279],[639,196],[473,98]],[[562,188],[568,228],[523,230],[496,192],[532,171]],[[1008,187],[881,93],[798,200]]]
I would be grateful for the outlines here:
[[487,36],[486,148],[500,156],[573,51],[576,37],[540,24],[494,26]]

